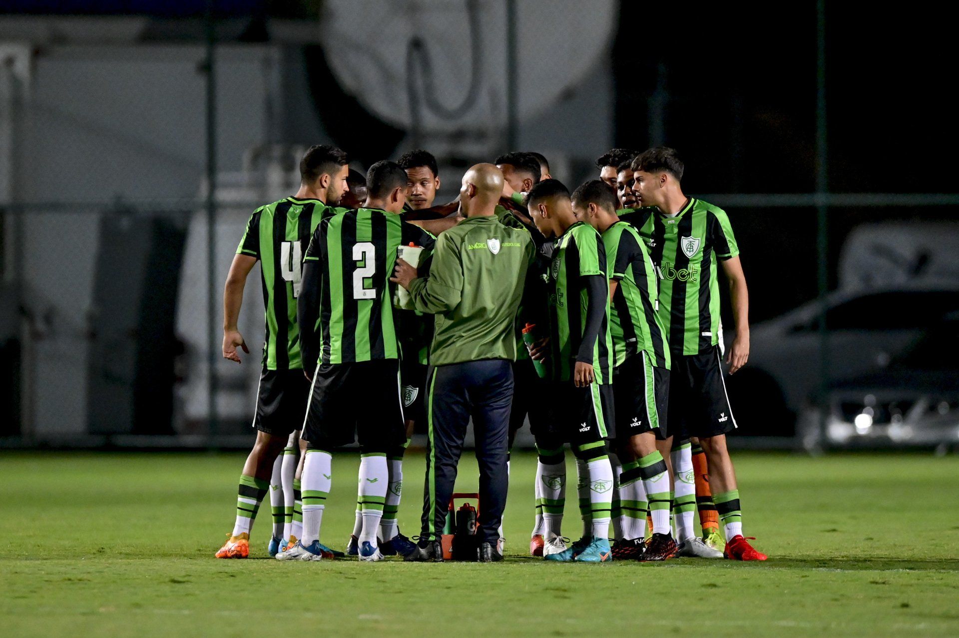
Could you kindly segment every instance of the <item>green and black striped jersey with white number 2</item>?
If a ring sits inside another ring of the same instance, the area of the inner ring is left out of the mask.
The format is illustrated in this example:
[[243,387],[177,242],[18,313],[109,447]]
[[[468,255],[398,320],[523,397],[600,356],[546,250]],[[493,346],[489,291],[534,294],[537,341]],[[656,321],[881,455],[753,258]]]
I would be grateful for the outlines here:
[[389,277],[400,246],[433,249],[433,235],[400,215],[360,208],[324,218],[306,261],[319,264],[319,356],[323,364],[399,359]]

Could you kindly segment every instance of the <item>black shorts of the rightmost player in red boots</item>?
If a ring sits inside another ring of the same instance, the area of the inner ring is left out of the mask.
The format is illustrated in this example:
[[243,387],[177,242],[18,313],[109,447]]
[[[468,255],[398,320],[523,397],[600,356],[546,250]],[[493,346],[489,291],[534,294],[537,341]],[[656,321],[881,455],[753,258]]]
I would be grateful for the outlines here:
[[673,353],[669,428],[676,440],[717,437],[737,428],[722,378],[718,345],[700,354]]

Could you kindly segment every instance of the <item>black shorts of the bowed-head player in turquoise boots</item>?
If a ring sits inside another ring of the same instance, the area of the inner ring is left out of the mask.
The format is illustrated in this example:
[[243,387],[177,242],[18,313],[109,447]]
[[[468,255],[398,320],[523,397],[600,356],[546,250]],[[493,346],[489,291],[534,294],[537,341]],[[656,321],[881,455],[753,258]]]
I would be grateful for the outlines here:
[[576,388],[565,381],[553,384],[550,396],[552,420],[564,442],[582,445],[616,437],[613,386]]

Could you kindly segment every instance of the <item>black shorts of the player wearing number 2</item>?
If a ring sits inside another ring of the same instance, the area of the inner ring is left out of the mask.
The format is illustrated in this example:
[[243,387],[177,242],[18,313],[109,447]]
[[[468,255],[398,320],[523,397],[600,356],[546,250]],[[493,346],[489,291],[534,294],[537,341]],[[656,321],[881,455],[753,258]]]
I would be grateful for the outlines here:
[[303,438],[311,447],[349,445],[359,438],[370,452],[407,442],[400,362],[379,359],[316,368]]

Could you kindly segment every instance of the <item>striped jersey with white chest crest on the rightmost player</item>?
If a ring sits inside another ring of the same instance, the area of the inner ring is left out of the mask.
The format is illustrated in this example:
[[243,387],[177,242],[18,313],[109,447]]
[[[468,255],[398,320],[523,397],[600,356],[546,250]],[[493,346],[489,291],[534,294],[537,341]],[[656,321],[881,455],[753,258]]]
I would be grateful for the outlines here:
[[674,354],[699,354],[719,343],[716,258],[739,254],[729,217],[721,208],[690,198],[677,215],[640,208],[621,219],[643,237],[660,272],[660,317]]

